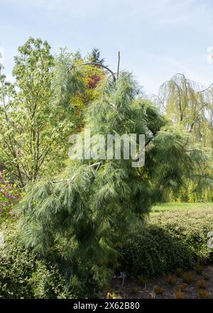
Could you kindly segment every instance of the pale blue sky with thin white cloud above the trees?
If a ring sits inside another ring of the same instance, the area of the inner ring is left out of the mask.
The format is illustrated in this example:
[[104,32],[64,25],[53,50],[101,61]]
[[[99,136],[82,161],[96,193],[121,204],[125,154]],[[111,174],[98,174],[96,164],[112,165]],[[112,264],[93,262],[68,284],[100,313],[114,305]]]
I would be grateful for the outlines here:
[[0,46],[11,78],[13,56],[29,36],[82,54],[100,48],[107,65],[136,75],[147,94],[175,73],[213,81],[212,0],[0,0]]

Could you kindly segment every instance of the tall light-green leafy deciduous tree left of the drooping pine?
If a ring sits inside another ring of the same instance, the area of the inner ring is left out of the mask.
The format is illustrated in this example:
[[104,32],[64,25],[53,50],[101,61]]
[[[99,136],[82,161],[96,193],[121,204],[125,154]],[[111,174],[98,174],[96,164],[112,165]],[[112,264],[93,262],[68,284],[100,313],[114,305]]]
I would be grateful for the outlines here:
[[72,108],[53,105],[54,64],[47,41],[29,38],[15,58],[15,85],[0,77],[1,161],[22,185],[67,159]]

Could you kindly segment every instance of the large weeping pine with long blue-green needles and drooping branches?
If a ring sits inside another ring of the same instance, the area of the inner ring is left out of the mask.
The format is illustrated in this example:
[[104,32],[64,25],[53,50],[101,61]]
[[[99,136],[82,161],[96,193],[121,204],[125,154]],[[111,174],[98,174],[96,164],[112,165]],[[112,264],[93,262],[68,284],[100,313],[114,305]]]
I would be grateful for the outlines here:
[[[105,69],[109,76],[87,107],[85,128],[105,139],[108,134],[144,134],[145,165],[132,167],[123,153],[121,159],[70,160],[63,173],[27,186],[21,225],[28,248],[52,256],[71,277],[102,284],[117,265],[117,248],[143,226],[151,205],[178,190],[195,167],[187,134],[165,124],[158,109],[143,99],[131,73]],[[81,75],[84,65],[60,60],[56,106],[67,105]]]

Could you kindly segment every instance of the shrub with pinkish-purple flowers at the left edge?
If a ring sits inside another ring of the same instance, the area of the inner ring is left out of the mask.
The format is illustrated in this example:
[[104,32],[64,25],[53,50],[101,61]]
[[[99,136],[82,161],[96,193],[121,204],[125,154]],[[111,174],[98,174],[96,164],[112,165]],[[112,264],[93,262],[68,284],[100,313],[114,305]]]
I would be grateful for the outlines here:
[[0,171],[0,218],[15,216],[14,206],[21,201],[21,190],[12,184],[6,171]]

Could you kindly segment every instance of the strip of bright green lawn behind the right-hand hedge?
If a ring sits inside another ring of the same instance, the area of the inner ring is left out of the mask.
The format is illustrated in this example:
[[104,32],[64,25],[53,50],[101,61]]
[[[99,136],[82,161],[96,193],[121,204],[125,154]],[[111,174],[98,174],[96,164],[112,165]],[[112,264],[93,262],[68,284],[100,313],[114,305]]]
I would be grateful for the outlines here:
[[151,209],[151,214],[158,214],[160,212],[165,212],[165,211],[190,211],[194,210],[195,208],[200,208],[201,210],[203,208],[212,208],[213,209],[213,202],[209,203],[159,203]]

